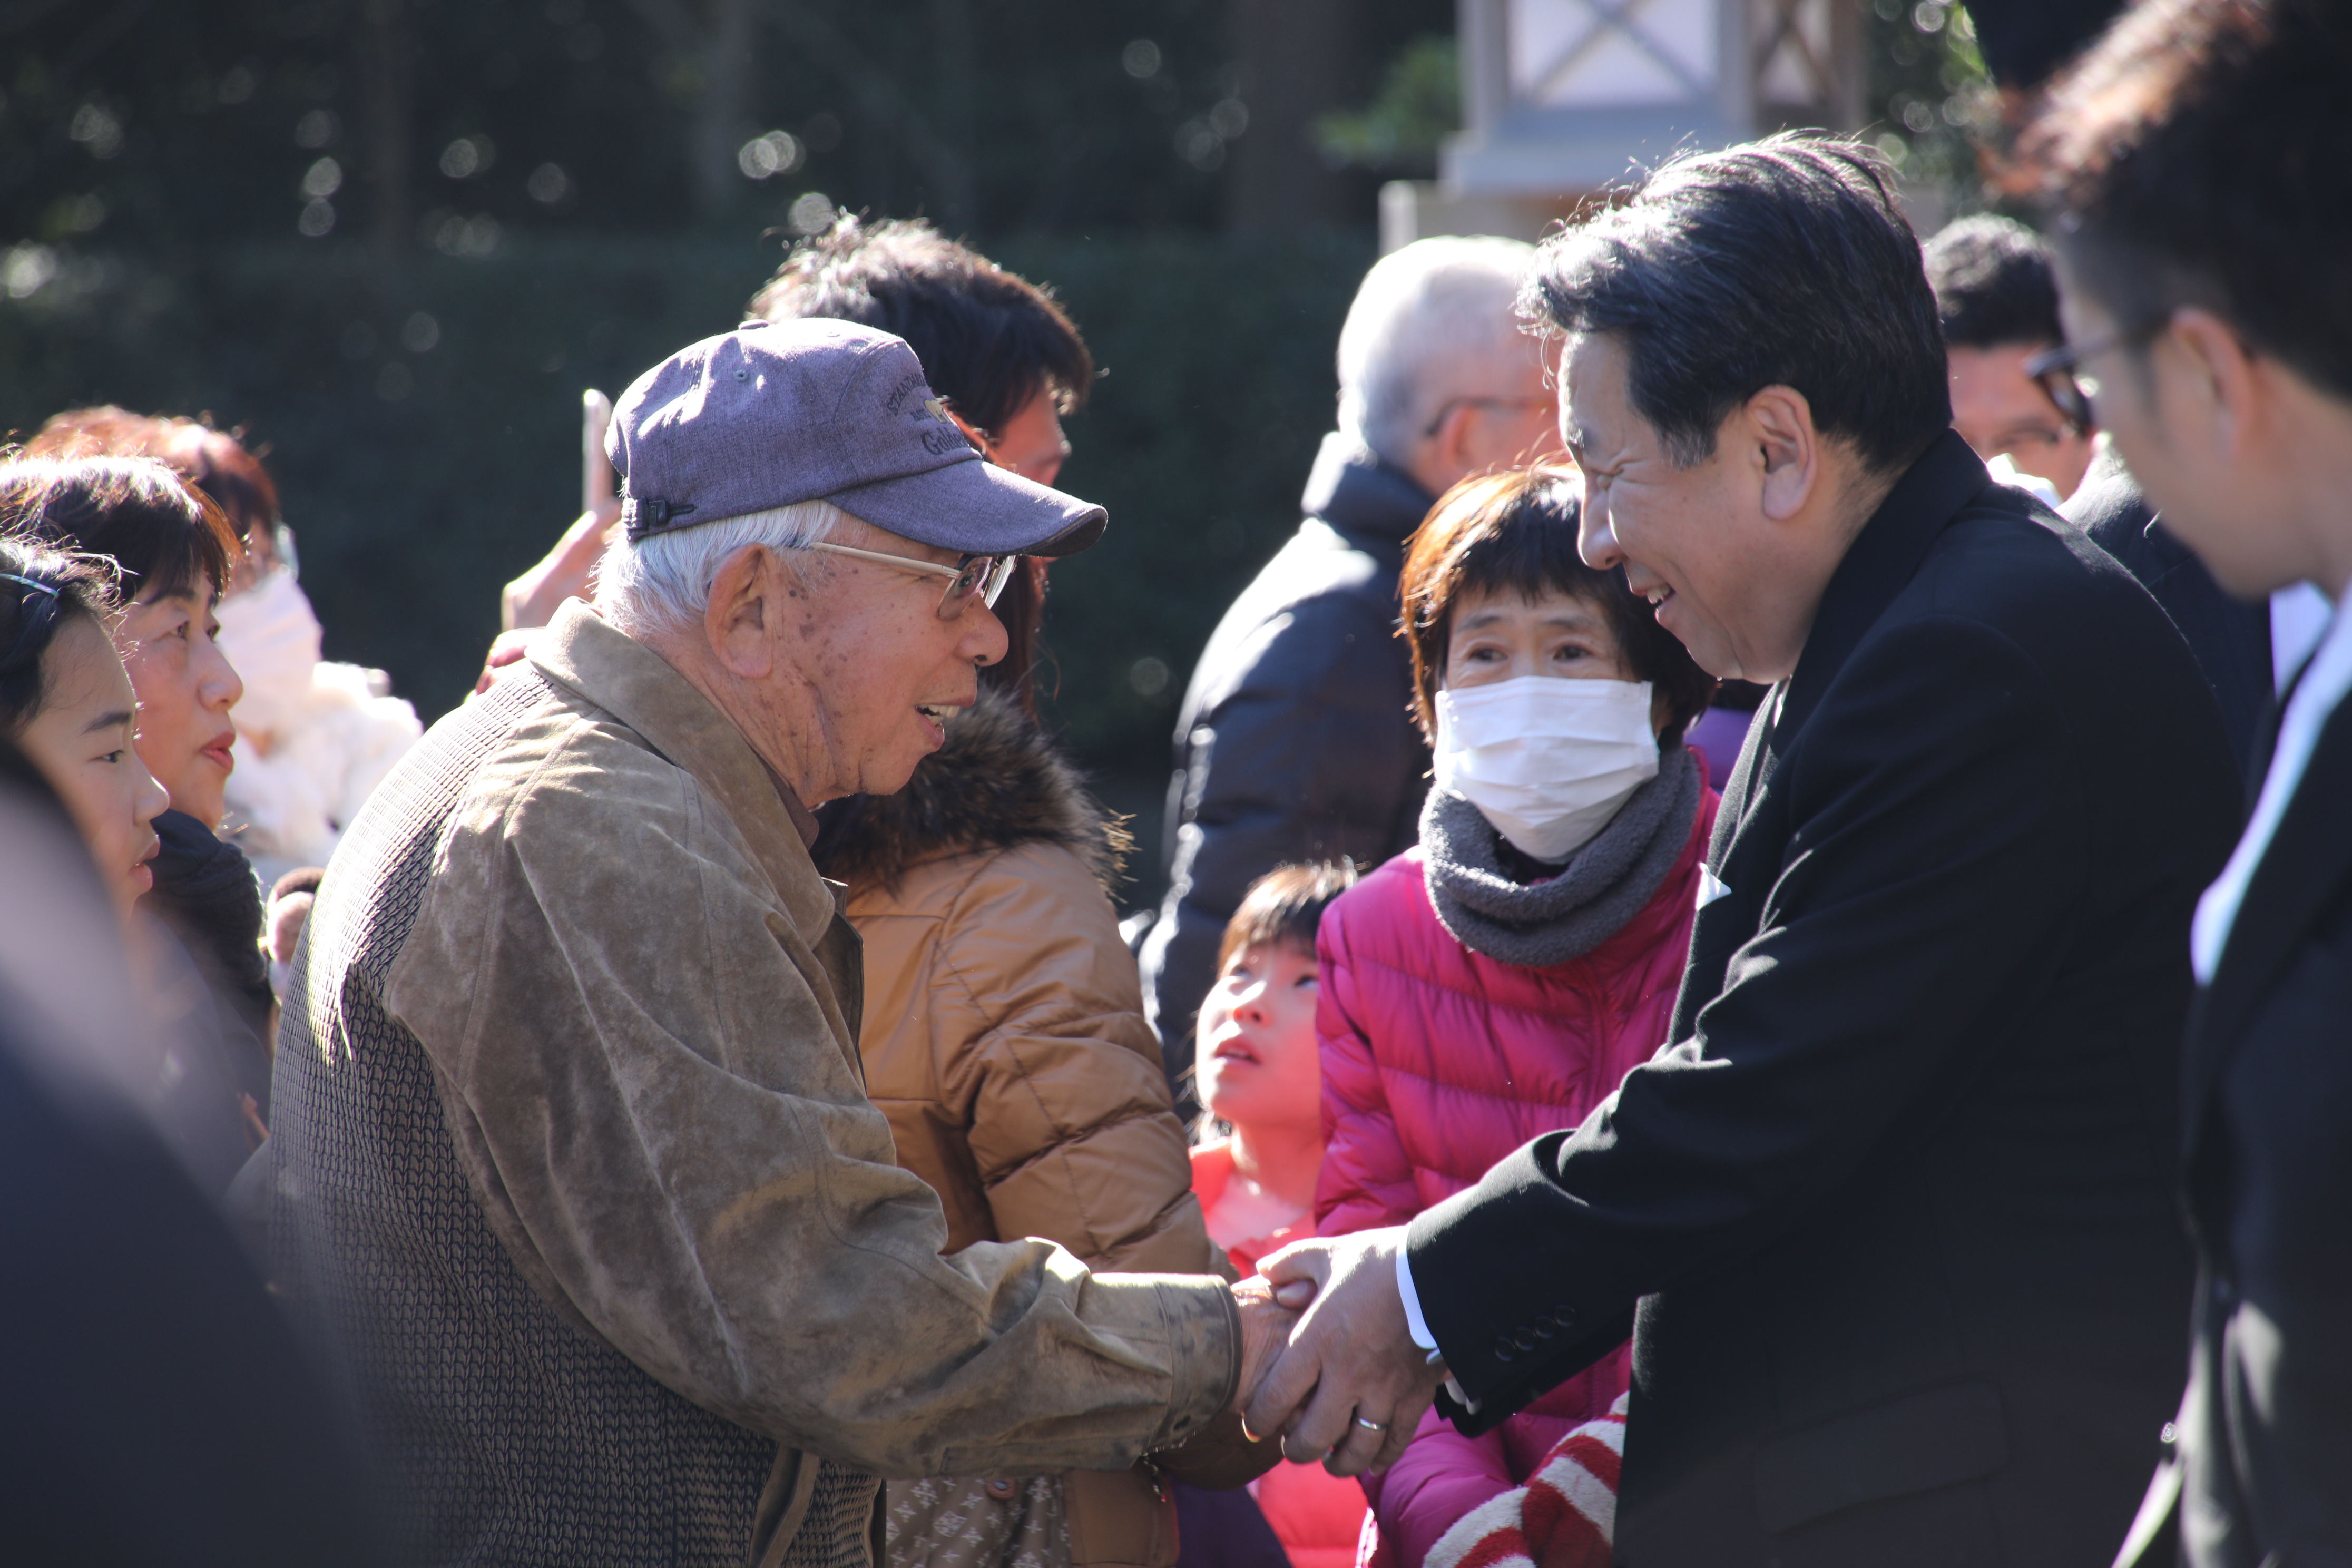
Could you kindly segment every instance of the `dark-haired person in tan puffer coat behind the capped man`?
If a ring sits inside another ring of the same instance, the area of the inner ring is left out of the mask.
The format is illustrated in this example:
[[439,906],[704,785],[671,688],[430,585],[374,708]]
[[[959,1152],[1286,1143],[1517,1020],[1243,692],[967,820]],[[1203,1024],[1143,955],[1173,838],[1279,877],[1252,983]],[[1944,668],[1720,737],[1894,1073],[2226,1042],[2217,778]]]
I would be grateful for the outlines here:
[[[750,308],[898,334],[990,461],[1040,484],[1061,473],[1061,416],[1094,381],[1084,339],[1051,294],[929,223],[844,216]],[[1004,658],[908,785],[818,811],[811,856],[847,884],[866,943],[866,1093],[898,1164],[938,1192],[948,1251],[1044,1237],[1096,1272],[1211,1272],[1108,896],[1127,835],[1037,722],[1044,583],[1044,559],[1004,583]],[[1155,1465],[891,1481],[887,1507],[896,1568],[1176,1561]]]

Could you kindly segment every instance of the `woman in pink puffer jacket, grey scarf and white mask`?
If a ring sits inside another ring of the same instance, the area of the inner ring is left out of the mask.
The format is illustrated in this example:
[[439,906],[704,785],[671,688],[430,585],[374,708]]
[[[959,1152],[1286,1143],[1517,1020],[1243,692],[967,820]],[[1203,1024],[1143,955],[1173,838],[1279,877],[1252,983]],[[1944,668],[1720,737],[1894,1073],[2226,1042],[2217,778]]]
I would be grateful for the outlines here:
[[[1399,590],[1435,788],[1421,844],[1322,919],[1322,1234],[1411,1220],[1665,1041],[1715,825],[1682,743],[1715,682],[1576,557],[1571,470],[1458,484]],[[1482,1439],[1425,1420],[1367,1479],[1381,1568],[1421,1568],[1628,1375],[1621,1347]]]

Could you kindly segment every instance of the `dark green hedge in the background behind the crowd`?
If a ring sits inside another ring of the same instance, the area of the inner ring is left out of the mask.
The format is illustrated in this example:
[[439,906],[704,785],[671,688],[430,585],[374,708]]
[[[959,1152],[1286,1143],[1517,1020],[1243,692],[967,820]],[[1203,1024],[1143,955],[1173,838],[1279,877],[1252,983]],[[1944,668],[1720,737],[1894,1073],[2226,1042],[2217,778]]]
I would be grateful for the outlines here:
[[[1209,628],[1296,524],[1371,242],[990,249],[1061,289],[1105,367],[1070,423],[1063,484],[1108,505],[1112,529],[1054,569],[1047,637],[1070,745],[1141,806]],[[579,390],[619,395],[731,327],[776,254],[771,240],[642,237],[397,263],[343,242],[172,261],[19,249],[0,256],[0,428],[78,402],[247,425],[285,491],[329,656],[390,670],[433,717],[468,689],[499,585],[576,508]],[[402,343],[419,313],[437,329],[423,350],[423,331]],[[1157,689],[1148,661],[1167,670]]]

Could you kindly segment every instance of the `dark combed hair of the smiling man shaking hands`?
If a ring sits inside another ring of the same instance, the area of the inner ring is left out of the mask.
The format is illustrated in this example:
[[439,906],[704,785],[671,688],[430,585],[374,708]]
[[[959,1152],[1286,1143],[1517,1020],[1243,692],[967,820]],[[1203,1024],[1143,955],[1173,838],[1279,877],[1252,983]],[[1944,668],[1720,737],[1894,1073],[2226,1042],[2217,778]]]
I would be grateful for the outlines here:
[[1691,468],[1766,386],[1893,473],[1952,423],[1936,296],[1893,176],[1863,146],[1788,132],[1686,153],[1543,244],[1519,313],[1625,343],[1635,411]]

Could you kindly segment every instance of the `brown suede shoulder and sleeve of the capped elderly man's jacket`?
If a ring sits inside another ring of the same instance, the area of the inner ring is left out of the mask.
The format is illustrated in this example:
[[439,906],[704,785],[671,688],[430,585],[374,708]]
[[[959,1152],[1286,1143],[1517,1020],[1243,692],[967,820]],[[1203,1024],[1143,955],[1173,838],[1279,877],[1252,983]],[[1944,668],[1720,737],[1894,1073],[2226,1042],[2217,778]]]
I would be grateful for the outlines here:
[[743,736],[579,604],[513,684],[454,759],[383,1004],[536,1293],[691,1403],[884,1476],[1120,1469],[1211,1422],[1221,1281],[943,1255],[866,1098],[858,938]]

